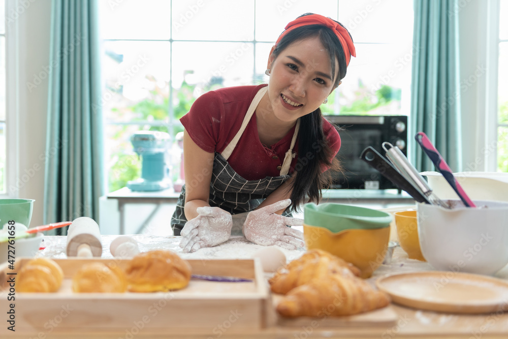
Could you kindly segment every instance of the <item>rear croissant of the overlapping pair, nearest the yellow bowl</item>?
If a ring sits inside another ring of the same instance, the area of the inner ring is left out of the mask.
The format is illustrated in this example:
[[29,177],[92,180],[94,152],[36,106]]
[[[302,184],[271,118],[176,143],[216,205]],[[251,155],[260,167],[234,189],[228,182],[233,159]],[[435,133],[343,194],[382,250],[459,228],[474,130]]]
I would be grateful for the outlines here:
[[274,293],[286,294],[295,287],[330,274],[359,276],[360,269],[323,250],[309,250],[277,270],[269,280]]

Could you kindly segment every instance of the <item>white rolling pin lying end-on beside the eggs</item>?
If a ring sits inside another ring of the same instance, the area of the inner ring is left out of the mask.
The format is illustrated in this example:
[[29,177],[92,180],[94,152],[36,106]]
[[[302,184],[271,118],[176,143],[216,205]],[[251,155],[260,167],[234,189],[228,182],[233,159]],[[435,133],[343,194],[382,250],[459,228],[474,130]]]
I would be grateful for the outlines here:
[[67,256],[102,256],[101,232],[97,222],[88,217],[73,220],[67,231]]

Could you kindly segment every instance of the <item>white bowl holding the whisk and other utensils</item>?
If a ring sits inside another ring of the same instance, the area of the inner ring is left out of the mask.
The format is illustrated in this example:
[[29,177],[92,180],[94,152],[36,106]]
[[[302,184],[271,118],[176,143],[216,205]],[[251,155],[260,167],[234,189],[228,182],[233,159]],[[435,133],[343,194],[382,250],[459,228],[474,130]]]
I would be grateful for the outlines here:
[[508,203],[473,200],[452,210],[417,204],[423,256],[439,270],[493,275],[508,263]]

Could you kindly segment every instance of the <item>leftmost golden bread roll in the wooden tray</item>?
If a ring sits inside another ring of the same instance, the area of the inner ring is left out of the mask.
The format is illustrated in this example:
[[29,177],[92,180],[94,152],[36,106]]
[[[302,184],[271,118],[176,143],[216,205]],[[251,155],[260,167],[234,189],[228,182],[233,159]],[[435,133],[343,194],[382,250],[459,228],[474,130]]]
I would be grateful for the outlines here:
[[18,292],[56,292],[62,283],[63,271],[52,259],[28,261],[18,273]]

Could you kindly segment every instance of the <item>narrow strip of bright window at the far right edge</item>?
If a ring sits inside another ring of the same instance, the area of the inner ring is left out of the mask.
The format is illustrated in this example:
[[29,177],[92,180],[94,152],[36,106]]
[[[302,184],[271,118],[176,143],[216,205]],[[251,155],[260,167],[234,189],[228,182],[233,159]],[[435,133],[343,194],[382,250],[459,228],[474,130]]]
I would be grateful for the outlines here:
[[[499,1],[499,63],[497,111],[497,171],[508,172],[508,0]],[[503,75],[503,76],[501,76]]]

